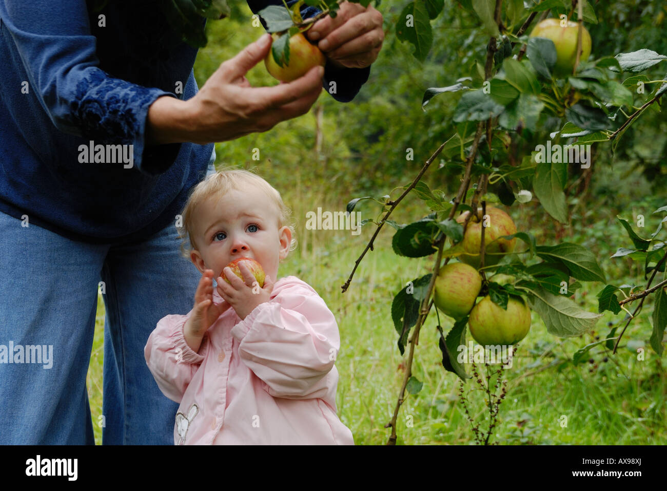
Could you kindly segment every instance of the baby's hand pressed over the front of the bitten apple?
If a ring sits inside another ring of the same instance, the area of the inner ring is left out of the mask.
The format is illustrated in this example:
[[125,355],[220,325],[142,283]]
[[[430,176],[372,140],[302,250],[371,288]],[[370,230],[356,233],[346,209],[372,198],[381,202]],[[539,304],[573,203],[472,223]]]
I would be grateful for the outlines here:
[[[231,282],[231,285],[222,277],[219,277],[215,281],[217,281],[217,291],[220,296],[233,307],[241,319],[245,319],[245,316],[251,313],[257,305],[269,301],[271,291],[273,291],[273,281],[271,281],[271,278],[265,277],[264,287],[259,288],[257,280],[243,261],[239,263],[239,269],[245,279],[245,283],[228,267],[225,267],[222,271],[223,275]],[[253,283],[255,283],[254,287]]]

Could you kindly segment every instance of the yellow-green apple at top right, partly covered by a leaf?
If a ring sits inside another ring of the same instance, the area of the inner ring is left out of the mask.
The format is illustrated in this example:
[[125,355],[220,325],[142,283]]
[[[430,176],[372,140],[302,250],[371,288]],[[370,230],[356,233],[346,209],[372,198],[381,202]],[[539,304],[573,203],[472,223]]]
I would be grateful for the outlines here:
[[[554,41],[554,45],[556,45],[554,75],[564,76],[572,73],[574,62],[577,59],[578,32],[579,25],[576,22],[567,21],[567,25],[561,25],[559,19],[544,19],[530,33],[530,37],[546,37],[546,39]],[[588,33],[588,29],[583,27],[580,60],[588,59],[590,47],[590,34]]]

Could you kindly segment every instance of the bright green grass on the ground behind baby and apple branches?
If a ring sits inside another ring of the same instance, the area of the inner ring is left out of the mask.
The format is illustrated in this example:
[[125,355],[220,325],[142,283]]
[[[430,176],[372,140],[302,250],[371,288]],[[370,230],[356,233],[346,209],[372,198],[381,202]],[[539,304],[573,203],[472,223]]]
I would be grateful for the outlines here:
[[[303,216],[301,214],[300,216]],[[407,281],[428,273],[431,258],[407,259],[392,253],[391,229],[384,230],[376,249],[360,265],[347,293],[341,294],[354,260],[372,233],[360,236],[346,231],[298,230],[297,238],[307,250],[297,249],[281,266],[280,275],[297,275],[317,290],[336,315],[341,349],[336,361],[340,373],[338,415],[354,435],[356,444],[384,444],[390,429],[384,428],[394,412],[404,372],[391,319],[391,303]],[[300,234],[300,235],[299,235]],[[595,296],[577,300],[596,309]],[[89,397],[97,443],[101,428],[101,367],[103,303],[99,302],[97,329],[89,371]],[[649,307],[644,312],[652,311]],[[420,333],[413,375],[424,383],[422,391],[408,395],[398,416],[398,444],[474,444],[470,424],[458,403],[459,379],[443,369],[432,313]],[[441,315],[447,331],[450,319]],[[597,368],[589,363],[572,365],[572,354],[606,335],[606,313],[596,331],[582,337],[561,339],[546,332],[533,313],[533,323],[506,370],[510,391],[500,407],[500,423],[492,436],[499,444],[665,444],[667,383],[661,360],[648,347],[646,359],[638,361],[633,343],[645,343],[650,335],[646,314],[634,321],[616,355],[604,348],[592,349]],[[406,355],[408,351],[406,348]],[[604,363],[602,359],[608,357]],[[588,359],[587,357],[587,359]],[[554,366],[548,367],[550,363]],[[560,371],[555,365],[561,364]],[[470,373],[469,365],[466,365]],[[590,371],[592,370],[592,371]],[[486,405],[472,381],[466,382],[471,414],[486,415]],[[562,426],[562,417],[567,426]],[[408,426],[408,423],[412,426]]]

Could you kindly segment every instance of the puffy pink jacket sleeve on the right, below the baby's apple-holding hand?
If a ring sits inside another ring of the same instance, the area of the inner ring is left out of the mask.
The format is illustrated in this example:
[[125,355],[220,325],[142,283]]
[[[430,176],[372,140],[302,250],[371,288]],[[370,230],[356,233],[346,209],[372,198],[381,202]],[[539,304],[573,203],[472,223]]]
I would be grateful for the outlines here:
[[270,302],[231,329],[239,356],[273,397],[325,397],[338,377],[327,377],[340,348],[338,324],[307,285],[286,285]]

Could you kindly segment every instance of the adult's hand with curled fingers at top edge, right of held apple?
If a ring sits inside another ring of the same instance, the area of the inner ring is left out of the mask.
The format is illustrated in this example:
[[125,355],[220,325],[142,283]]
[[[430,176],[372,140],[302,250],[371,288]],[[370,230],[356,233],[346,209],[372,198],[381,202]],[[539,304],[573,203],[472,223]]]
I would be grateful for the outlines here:
[[321,39],[317,47],[336,67],[368,67],[382,49],[382,14],[371,5],[344,1],[336,17],[319,19],[307,34],[312,41]]

